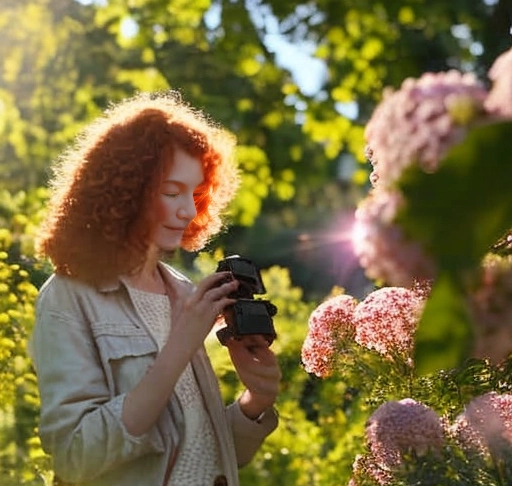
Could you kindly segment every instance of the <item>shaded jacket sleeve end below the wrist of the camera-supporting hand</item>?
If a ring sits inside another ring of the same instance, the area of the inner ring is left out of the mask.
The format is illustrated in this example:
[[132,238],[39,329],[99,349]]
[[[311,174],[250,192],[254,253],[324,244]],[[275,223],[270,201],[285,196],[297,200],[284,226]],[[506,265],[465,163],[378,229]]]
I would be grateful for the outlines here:
[[254,457],[263,441],[278,425],[278,416],[274,408],[265,412],[261,420],[247,418],[238,402],[226,408],[228,422],[233,432],[238,466],[248,464]]

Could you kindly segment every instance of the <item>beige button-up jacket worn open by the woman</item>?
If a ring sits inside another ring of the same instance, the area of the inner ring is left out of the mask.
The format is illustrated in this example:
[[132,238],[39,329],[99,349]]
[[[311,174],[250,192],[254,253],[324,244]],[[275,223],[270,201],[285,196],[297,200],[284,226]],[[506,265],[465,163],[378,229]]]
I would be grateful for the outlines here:
[[[168,280],[175,277],[174,291],[190,292],[185,277],[167,265],[162,268]],[[134,437],[123,426],[125,393],[152,365],[157,345],[122,280],[98,289],[50,277],[37,301],[32,353],[41,395],[39,433],[56,476],[81,486],[164,486],[183,436],[183,414],[173,396],[147,434]],[[277,427],[277,417],[269,412],[256,423],[238,403],[225,407],[204,348],[192,366],[228,486],[238,486],[238,467]]]

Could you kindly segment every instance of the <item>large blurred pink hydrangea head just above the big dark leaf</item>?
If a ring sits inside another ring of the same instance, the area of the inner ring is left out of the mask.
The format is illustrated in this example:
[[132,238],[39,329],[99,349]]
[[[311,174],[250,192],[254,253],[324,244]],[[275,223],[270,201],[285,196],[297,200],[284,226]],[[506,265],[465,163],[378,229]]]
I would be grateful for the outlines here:
[[415,164],[435,172],[484,112],[486,96],[474,74],[455,70],[408,78],[399,90],[385,92],[365,129],[372,183],[389,187]]

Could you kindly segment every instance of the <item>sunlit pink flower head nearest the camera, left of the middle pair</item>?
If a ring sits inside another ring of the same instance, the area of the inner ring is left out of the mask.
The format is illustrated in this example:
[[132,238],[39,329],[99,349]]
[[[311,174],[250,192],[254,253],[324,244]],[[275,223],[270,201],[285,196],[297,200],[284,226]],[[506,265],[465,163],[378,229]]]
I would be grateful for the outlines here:
[[357,303],[354,297],[341,294],[326,300],[311,313],[301,352],[308,373],[321,378],[333,373],[343,342],[353,339],[352,318]]

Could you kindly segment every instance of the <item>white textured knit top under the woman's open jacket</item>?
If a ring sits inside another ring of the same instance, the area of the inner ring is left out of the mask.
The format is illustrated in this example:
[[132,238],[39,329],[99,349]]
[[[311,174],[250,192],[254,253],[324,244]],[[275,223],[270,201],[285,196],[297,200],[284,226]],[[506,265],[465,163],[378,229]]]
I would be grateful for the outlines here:
[[[171,328],[171,307],[167,295],[129,287],[132,300],[162,349]],[[190,363],[176,383],[176,394],[185,417],[185,436],[168,486],[205,486],[221,474],[219,449],[210,416]]]

